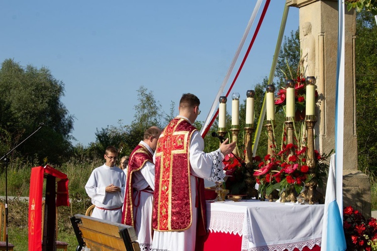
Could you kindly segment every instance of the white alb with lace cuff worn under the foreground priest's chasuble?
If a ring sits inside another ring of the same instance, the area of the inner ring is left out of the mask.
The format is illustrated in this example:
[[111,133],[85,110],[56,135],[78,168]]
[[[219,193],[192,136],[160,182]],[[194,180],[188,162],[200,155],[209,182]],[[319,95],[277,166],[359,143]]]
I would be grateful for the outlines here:
[[[183,116],[178,116],[187,119]],[[187,121],[190,121],[187,119]],[[220,149],[205,153],[204,140],[198,131],[193,133],[190,143],[190,182],[193,221],[185,231],[154,231],[152,250],[154,251],[194,251],[199,208],[195,207],[197,197],[197,182],[195,177],[209,179],[213,182],[223,181],[225,176],[222,160],[224,155]],[[153,156],[153,161],[155,156]]]

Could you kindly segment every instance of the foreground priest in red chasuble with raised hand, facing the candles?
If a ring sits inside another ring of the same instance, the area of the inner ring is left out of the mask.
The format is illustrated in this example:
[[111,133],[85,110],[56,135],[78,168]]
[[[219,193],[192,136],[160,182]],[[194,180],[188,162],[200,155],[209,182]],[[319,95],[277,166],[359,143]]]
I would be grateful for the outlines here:
[[179,115],[169,122],[157,143],[153,156],[153,250],[195,250],[196,234],[207,231],[204,179],[223,181],[222,160],[236,146],[235,142],[227,144],[227,139],[218,150],[203,152],[204,140],[193,126],[199,105],[197,96],[183,94]]

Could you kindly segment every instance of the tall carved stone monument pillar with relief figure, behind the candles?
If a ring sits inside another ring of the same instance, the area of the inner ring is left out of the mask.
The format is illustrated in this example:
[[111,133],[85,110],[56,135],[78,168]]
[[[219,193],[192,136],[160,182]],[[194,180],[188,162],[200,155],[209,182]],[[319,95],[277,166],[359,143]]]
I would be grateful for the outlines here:
[[[338,1],[287,0],[287,5],[299,8],[302,63],[307,71],[305,75],[313,74],[317,79],[319,101],[316,107],[316,148],[321,153],[330,153],[335,148]],[[352,205],[365,217],[370,217],[370,180],[357,170],[355,33],[356,14],[352,10],[345,13],[343,205]]]

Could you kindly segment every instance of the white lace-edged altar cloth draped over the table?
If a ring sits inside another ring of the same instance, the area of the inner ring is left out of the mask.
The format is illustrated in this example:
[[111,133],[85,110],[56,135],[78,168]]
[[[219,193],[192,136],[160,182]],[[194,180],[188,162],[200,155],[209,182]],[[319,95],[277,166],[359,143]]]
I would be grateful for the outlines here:
[[259,200],[207,202],[207,228],[242,236],[242,251],[321,246],[324,205]]

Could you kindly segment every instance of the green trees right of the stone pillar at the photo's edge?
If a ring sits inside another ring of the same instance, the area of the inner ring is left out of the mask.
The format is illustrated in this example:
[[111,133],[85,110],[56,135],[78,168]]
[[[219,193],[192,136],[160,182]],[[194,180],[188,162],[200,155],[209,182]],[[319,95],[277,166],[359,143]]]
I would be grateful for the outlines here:
[[358,168],[377,175],[377,27],[370,12],[356,18],[356,130]]

